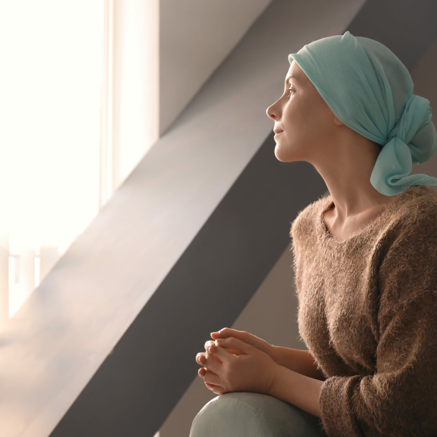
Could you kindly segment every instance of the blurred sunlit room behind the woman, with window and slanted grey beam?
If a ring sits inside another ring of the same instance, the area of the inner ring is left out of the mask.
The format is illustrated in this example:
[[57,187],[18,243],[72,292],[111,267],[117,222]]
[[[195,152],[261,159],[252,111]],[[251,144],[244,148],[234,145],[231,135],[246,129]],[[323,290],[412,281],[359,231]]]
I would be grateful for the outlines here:
[[[0,1],[0,434],[188,436],[215,397],[194,359],[210,332],[306,349],[288,232],[326,186],[275,159],[265,111],[289,53],[347,30],[432,107],[436,13]],[[437,177],[436,156],[412,173]]]

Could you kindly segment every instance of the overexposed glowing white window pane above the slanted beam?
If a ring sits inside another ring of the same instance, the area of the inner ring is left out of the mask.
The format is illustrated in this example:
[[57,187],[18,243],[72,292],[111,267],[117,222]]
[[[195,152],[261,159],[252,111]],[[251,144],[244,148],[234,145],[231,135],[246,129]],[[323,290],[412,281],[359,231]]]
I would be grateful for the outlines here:
[[[0,226],[14,256],[61,256],[98,212],[103,27],[103,0],[0,2]],[[10,285],[12,316],[25,293]]]

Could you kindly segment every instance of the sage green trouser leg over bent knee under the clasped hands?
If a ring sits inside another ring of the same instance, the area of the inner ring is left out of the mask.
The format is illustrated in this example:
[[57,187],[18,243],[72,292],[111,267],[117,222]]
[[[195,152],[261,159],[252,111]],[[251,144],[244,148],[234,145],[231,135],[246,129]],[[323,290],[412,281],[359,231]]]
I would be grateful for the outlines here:
[[274,398],[230,392],[211,399],[194,417],[190,437],[327,437],[322,420]]

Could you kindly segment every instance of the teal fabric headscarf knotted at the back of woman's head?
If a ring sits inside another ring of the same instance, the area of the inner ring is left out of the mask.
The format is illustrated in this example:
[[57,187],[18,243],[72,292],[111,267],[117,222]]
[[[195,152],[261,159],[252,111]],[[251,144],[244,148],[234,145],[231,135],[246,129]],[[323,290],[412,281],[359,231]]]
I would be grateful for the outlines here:
[[347,31],[304,45],[293,59],[343,124],[383,146],[370,177],[380,193],[437,186],[435,177],[408,176],[413,163],[437,151],[437,134],[430,101],[413,94],[406,66],[390,49]]

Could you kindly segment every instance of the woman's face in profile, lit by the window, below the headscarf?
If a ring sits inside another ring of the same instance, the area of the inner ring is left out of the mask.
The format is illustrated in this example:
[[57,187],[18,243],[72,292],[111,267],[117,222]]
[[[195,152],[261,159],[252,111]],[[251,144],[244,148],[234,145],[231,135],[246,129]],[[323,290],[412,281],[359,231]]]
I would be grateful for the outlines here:
[[278,160],[309,161],[321,157],[334,137],[335,115],[303,70],[293,60],[284,94],[267,108],[274,120],[275,156]]

